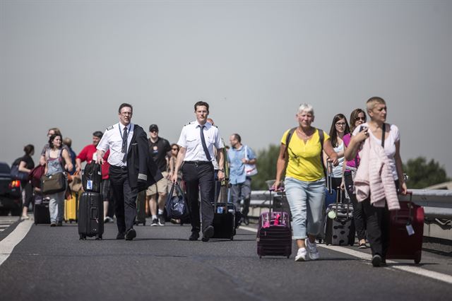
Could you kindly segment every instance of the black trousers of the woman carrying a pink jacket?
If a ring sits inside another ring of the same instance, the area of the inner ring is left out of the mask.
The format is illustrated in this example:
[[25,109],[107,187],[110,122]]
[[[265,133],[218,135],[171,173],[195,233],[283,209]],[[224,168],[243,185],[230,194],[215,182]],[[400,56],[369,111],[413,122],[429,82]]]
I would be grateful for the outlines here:
[[[398,190],[398,181],[396,181]],[[367,239],[370,243],[372,255],[379,254],[383,258],[389,249],[389,230],[391,213],[388,209],[388,203],[384,207],[374,207],[370,203],[370,197],[362,201],[364,214],[367,220]]]

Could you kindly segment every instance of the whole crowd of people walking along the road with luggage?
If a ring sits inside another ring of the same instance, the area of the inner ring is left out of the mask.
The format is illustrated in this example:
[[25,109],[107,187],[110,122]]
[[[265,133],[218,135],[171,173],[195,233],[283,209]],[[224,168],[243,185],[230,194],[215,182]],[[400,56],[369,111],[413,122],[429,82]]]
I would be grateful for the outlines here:
[[[39,165],[45,175],[67,172],[67,179],[80,177],[82,163],[102,165],[101,194],[104,201],[104,221],[117,221],[117,239],[133,240],[136,231],[136,199],[145,191],[145,211],[151,225],[165,225],[165,201],[173,183],[186,193],[190,208],[191,234],[189,240],[208,242],[215,232],[212,201],[218,200],[220,183],[230,183],[229,201],[234,203],[240,223],[249,224],[251,180],[256,174],[256,153],[242,143],[240,134],[229,137],[225,146],[218,127],[208,118],[207,102],[194,105],[195,120],[182,127],[177,143],[169,143],[159,136],[159,126],[145,130],[133,124],[133,107],[120,105],[119,122],[105,132],[94,131],[93,141],[76,154],[71,139],[64,138],[58,128],[48,131],[48,143],[42,148]],[[367,114],[366,114],[367,113]],[[370,120],[367,122],[367,115]],[[394,199],[376,201],[371,187],[376,168],[375,158],[385,163],[390,184],[383,181],[386,195],[400,191],[406,194],[400,134],[398,127],[386,123],[387,107],[382,98],[370,98],[365,110],[355,109],[350,124],[345,114],[335,114],[327,133],[315,126],[314,107],[298,107],[297,126],[284,132],[276,163],[273,189],[285,190],[292,214],[292,235],[297,244],[295,261],[319,259],[316,238],[324,229],[324,199],[326,171],[331,174],[332,187],[352,203],[358,247],[367,248],[369,242],[372,264],[385,263],[388,250],[388,213],[398,208]],[[24,148],[18,159],[20,172],[29,173],[35,167],[31,156],[34,146]],[[66,179],[66,181],[67,181]],[[23,214],[39,187],[22,181]],[[369,188],[370,186],[370,188]],[[177,193],[177,192],[175,192]],[[61,226],[64,220],[66,191],[48,194],[50,225]],[[143,209],[142,209],[143,210]],[[179,223],[179,220],[174,221]]]

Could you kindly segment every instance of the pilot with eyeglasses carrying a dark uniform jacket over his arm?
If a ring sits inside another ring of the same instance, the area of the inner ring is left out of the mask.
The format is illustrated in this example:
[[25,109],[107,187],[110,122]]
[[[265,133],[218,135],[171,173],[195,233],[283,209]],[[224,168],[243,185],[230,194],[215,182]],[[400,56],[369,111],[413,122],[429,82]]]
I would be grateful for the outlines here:
[[109,177],[114,193],[117,218],[117,240],[133,240],[136,231],[136,196],[162,178],[150,159],[148,137],[138,124],[131,123],[133,108],[128,103],[119,106],[119,122],[107,127],[97,144],[96,163],[104,163],[108,150]]

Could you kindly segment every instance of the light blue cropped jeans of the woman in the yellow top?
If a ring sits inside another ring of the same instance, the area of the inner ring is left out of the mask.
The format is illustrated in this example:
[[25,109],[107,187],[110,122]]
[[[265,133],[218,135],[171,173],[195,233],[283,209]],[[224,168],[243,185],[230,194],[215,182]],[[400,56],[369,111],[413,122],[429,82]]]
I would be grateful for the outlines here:
[[323,203],[325,179],[304,182],[287,177],[285,195],[292,213],[294,240],[304,240],[309,235],[319,235],[323,228]]

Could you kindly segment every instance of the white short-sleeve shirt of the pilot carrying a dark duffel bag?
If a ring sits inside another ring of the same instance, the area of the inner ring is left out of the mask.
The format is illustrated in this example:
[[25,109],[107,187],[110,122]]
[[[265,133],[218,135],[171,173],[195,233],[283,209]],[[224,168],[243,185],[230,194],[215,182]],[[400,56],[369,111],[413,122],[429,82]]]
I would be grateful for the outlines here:
[[[208,161],[201,143],[201,124],[198,121],[190,122],[182,128],[177,144],[186,149],[184,161]],[[215,160],[214,148],[223,148],[218,128],[206,122],[203,129],[206,146],[211,161]]]

